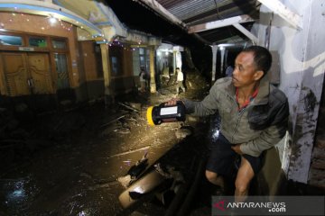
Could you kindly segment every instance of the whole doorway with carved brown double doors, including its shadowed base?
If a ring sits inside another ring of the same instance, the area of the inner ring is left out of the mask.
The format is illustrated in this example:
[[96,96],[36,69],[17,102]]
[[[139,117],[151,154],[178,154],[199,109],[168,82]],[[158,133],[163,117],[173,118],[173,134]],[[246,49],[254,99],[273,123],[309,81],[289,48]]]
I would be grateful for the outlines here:
[[56,107],[49,53],[3,51],[0,58],[9,102],[39,112]]

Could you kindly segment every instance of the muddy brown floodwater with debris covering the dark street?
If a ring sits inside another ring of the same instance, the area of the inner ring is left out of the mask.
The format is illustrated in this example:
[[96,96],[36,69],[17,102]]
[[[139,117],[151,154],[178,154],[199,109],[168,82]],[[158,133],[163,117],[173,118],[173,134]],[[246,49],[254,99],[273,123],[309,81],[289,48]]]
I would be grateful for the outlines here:
[[[198,76],[188,77],[188,91],[180,97],[201,99],[209,86]],[[168,206],[157,195],[124,210],[118,196],[125,188],[116,179],[147,154],[148,167],[172,166],[183,184],[194,181],[218,130],[210,129],[209,119],[190,117],[149,126],[147,107],[169,100],[174,92],[168,85],[157,94],[118,97],[107,108],[98,100],[27,121],[13,117],[2,130],[0,215],[164,215]],[[210,215],[200,195],[191,202],[188,215]]]

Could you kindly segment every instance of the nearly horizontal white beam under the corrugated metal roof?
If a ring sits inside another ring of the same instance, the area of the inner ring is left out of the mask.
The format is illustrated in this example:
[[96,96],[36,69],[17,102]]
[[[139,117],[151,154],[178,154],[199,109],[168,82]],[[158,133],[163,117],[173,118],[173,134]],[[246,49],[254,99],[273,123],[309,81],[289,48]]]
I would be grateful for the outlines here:
[[189,33],[195,33],[200,31],[208,31],[212,29],[218,29],[221,27],[225,27],[228,25],[232,25],[235,23],[247,23],[247,22],[254,22],[249,15],[238,15],[224,20],[218,20],[209,23],[203,23],[198,25],[190,26]]

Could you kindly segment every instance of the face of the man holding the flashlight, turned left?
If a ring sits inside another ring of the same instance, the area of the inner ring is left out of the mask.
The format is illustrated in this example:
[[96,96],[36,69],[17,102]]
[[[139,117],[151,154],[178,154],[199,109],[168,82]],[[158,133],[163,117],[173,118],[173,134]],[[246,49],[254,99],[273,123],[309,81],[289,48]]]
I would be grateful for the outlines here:
[[[263,74],[262,74],[263,75]],[[241,52],[235,60],[235,68],[232,76],[232,83],[236,87],[246,87],[260,78],[254,63],[253,52]]]

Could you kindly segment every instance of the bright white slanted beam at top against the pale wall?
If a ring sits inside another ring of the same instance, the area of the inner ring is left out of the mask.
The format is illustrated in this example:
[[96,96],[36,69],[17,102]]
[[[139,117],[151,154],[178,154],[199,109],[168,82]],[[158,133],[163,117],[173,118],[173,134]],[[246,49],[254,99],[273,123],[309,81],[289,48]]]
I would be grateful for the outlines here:
[[258,0],[268,9],[281,16],[287,23],[290,23],[295,29],[302,30],[302,16],[293,13],[279,0]]

